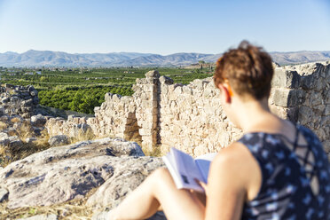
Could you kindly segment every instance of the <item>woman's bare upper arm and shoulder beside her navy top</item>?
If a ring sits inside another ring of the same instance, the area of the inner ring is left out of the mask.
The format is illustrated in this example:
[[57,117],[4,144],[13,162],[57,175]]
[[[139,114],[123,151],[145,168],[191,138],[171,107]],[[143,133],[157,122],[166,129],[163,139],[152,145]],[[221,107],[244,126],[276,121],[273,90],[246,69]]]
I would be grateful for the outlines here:
[[261,179],[258,163],[244,145],[222,150],[209,171],[205,219],[240,219],[244,201],[255,197]]

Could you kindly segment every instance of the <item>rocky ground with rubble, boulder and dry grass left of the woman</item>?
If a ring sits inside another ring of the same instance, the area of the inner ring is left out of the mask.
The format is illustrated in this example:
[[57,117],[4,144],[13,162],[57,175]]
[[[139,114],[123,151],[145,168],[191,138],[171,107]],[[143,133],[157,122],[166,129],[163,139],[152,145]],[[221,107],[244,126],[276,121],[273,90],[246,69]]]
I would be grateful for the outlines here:
[[88,140],[83,126],[74,126],[75,137],[50,137],[46,124],[56,115],[38,105],[33,86],[0,90],[0,219],[106,219],[163,166],[135,142]]

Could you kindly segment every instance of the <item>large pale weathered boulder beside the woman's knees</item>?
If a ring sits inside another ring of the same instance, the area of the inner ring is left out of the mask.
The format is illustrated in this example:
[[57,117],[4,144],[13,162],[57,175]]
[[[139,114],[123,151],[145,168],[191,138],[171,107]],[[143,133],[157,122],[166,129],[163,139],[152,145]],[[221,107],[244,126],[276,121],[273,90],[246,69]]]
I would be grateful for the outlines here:
[[0,185],[9,192],[7,207],[21,208],[82,199],[107,183],[101,191],[109,193],[106,187],[112,187],[118,197],[107,200],[97,191],[89,204],[112,208],[153,169],[163,166],[161,158],[142,155],[136,143],[111,138],[52,147],[0,169]]

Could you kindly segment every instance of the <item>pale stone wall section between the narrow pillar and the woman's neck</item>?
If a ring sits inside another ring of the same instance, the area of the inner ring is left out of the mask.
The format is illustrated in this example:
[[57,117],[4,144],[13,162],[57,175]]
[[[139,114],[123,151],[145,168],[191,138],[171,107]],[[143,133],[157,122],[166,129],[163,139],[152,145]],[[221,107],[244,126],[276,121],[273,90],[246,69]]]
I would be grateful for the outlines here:
[[223,113],[212,78],[188,85],[161,76],[161,147],[175,146],[192,155],[216,152],[241,135]]

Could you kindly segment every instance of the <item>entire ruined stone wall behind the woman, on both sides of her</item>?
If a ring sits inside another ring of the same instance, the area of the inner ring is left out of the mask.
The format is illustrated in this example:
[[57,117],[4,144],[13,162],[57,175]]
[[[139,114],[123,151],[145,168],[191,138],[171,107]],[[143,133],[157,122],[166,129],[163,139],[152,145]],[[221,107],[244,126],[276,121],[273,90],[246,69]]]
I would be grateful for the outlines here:
[[[269,103],[273,113],[314,130],[330,155],[329,81],[329,63],[275,67]],[[224,114],[211,77],[182,85],[150,71],[133,90],[132,97],[107,93],[95,117],[61,123],[86,123],[97,137],[135,138],[149,150],[175,146],[193,156],[215,152],[241,136]]]

